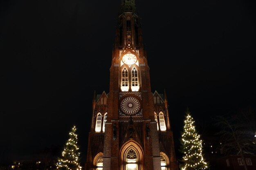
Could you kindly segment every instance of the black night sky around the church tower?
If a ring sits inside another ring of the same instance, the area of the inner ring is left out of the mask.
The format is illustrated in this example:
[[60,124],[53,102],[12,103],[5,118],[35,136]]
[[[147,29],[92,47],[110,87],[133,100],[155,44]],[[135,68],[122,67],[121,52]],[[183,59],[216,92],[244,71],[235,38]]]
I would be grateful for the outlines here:
[[[256,106],[255,2],[136,4],[152,92],[166,89],[175,140],[187,107],[196,123],[207,123]],[[73,124],[85,162],[94,90],[109,92],[120,5],[121,0],[0,2],[0,164],[62,147]]]

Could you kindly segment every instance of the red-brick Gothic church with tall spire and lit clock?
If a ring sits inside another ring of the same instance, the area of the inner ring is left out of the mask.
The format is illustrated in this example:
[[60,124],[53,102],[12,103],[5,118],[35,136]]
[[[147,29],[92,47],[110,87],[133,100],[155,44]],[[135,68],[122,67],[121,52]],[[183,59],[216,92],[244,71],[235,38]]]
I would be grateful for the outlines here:
[[96,95],[85,170],[178,170],[166,94],[151,92],[135,0],[122,0],[109,93]]

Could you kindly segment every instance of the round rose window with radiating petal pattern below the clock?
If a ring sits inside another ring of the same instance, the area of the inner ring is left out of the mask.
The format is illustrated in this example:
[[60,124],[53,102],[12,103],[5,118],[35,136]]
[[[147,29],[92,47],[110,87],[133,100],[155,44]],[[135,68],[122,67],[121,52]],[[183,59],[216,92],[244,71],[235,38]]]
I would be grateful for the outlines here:
[[136,97],[124,97],[124,99],[121,100],[120,108],[126,115],[135,115],[140,110],[140,102]]

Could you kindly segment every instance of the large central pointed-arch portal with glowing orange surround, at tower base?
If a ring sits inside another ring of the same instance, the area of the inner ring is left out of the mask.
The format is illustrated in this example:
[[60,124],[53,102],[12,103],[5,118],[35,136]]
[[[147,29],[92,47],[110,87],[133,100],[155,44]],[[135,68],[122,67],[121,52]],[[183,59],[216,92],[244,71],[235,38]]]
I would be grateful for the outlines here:
[[133,139],[128,140],[120,149],[120,170],[144,170],[144,153]]

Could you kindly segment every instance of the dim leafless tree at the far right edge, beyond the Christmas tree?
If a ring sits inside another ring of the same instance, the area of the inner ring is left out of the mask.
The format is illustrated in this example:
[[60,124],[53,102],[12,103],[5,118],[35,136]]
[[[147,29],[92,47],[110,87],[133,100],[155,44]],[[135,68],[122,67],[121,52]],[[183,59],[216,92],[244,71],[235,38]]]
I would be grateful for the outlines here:
[[219,149],[225,155],[240,155],[247,170],[244,155],[256,153],[255,110],[239,110],[234,115],[218,116],[215,121],[216,126],[221,129],[216,133],[221,141]]

